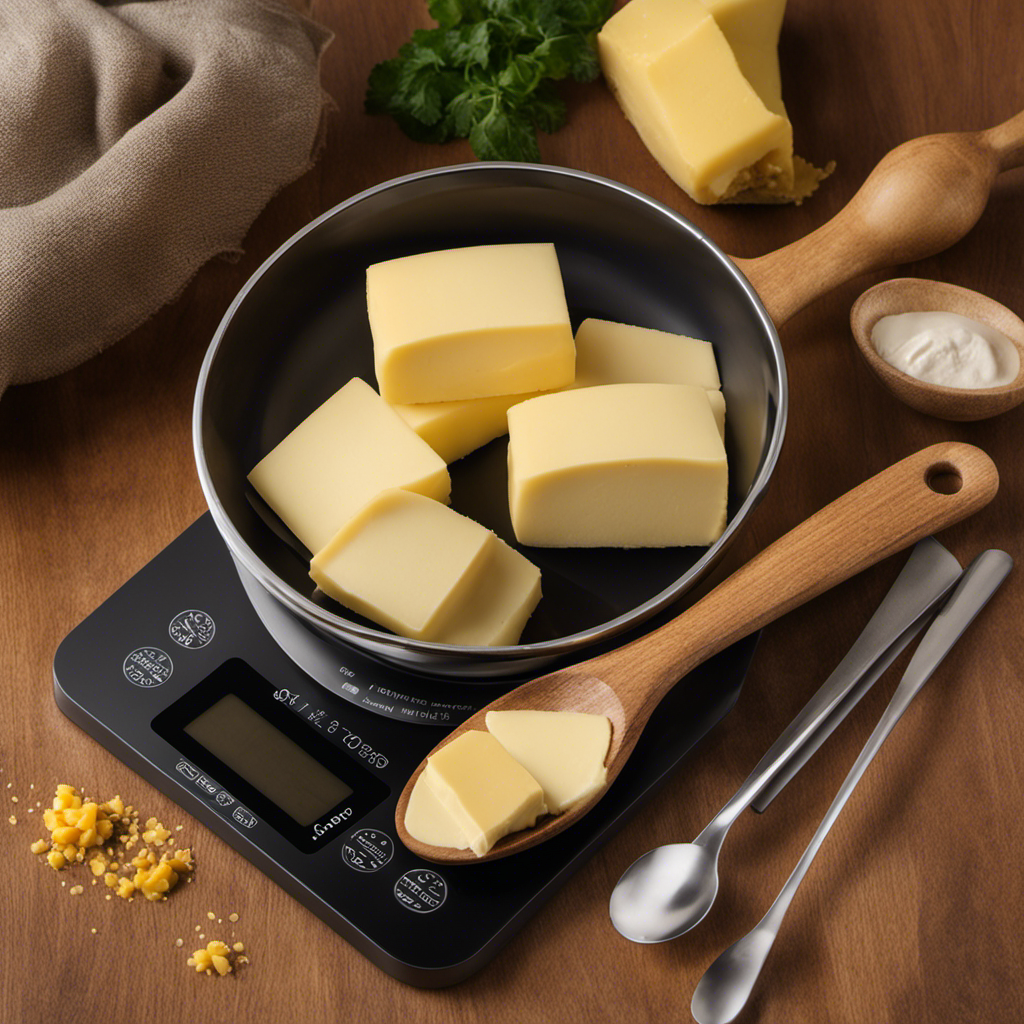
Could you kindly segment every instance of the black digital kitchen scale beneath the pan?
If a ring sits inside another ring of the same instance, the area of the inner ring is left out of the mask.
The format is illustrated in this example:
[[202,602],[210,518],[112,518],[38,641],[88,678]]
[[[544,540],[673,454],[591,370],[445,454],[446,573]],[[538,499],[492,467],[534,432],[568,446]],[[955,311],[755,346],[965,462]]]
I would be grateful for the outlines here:
[[504,860],[438,866],[397,841],[398,794],[449,728],[521,680],[435,681],[355,650],[339,665],[336,647],[329,663],[316,638],[286,653],[252,598],[205,514],[63,640],[57,706],[374,964],[424,987],[479,970],[625,821],[730,710],[757,642],[666,697],[575,825]]

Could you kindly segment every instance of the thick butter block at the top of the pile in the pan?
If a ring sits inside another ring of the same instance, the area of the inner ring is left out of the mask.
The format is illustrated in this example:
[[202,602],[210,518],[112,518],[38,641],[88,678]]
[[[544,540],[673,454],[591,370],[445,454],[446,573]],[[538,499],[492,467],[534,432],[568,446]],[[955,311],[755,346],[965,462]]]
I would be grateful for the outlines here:
[[575,352],[550,243],[470,246],[367,268],[381,395],[416,403],[568,384]]

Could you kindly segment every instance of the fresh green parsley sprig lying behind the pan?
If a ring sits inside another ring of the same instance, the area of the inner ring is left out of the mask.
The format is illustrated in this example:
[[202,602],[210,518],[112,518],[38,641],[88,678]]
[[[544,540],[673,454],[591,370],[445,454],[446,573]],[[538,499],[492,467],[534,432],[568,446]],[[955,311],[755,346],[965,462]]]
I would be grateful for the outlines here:
[[370,73],[366,106],[411,138],[468,138],[480,160],[541,159],[565,123],[554,82],[598,75],[594,38],[613,0],[429,0],[420,29]]

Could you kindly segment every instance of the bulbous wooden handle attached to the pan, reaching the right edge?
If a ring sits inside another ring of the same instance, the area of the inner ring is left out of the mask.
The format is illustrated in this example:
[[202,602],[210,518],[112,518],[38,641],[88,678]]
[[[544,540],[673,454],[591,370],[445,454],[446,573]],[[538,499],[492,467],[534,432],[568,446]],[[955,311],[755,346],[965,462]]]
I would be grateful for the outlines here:
[[734,259],[776,327],[870,270],[924,259],[977,223],[999,171],[1024,164],[1024,112],[981,132],[911,139],[882,158],[853,199],[810,234]]

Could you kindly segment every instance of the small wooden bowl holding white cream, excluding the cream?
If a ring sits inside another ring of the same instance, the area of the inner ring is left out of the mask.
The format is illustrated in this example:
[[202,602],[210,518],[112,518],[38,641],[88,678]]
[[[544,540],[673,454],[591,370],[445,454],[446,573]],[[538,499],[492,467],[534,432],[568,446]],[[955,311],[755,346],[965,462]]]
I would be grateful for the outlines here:
[[[886,362],[871,344],[871,331],[893,313],[959,313],[1005,334],[1020,354],[1016,378],[1000,387],[944,387],[920,381]],[[942,420],[983,420],[1024,401],[1024,322],[987,295],[919,278],[894,278],[867,289],[850,310],[850,328],[867,365],[897,398],[919,412]]]

